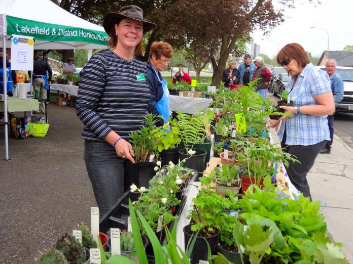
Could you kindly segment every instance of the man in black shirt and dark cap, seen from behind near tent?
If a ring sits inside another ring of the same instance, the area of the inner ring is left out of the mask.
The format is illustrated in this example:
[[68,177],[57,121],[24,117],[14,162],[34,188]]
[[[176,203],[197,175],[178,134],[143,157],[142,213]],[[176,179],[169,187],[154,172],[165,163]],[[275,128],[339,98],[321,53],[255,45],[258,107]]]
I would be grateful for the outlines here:
[[[28,71],[28,74],[30,76],[30,71]],[[43,53],[37,52],[36,60],[34,60],[33,62],[32,84],[33,84],[33,91],[38,90],[39,92],[39,99],[47,99],[47,90],[49,89],[52,75],[53,75],[53,72],[48,62],[43,60]],[[44,101],[40,103],[39,111],[42,113],[45,113]],[[39,112],[35,112],[35,113],[38,114]]]

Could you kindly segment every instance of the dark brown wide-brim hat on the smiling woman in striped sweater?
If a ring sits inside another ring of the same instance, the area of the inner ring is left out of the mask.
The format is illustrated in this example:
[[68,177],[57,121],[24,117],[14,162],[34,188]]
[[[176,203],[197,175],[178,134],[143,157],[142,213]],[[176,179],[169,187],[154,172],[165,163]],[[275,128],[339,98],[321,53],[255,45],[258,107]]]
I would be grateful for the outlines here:
[[142,22],[144,33],[156,27],[155,23],[144,20],[144,11],[142,11],[142,9],[136,6],[126,6],[122,7],[119,12],[109,12],[104,16],[103,27],[105,32],[109,34],[112,27],[114,27],[115,24],[119,24],[120,20],[124,18],[130,18]]

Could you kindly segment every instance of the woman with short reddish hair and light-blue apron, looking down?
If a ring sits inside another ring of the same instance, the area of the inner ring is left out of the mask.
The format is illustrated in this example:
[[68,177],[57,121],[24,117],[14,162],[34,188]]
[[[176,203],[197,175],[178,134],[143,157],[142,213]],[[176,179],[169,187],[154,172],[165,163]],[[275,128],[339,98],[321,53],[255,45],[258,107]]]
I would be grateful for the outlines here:
[[[167,42],[153,42],[150,51],[150,62],[147,63],[147,81],[150,86],[151,99],[147,111],[159,117],[156,125],[162,126],[170,117],[169,91],[167,82],[160,71],[164,70],[169,60],[173,57],[173,51]],[[163,120],[164,119],[164,120]]]

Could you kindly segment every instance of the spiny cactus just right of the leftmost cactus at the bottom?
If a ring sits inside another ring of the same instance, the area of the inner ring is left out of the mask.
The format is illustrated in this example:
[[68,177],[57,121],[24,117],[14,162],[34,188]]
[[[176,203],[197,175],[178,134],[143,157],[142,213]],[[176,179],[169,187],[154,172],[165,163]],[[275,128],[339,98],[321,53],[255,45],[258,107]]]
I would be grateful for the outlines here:
[[67,233],[58,239],[54,248],[60,250],[71,264],[81,264],[86,261],[86,249],[75,237]]

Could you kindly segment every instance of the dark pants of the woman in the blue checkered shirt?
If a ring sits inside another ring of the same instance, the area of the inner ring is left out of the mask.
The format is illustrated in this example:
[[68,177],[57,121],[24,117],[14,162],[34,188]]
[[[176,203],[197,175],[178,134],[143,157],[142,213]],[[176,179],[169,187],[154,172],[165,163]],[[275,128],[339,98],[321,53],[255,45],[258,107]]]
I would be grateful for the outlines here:
[[310,188],[308,181],[306,180],[306,174],[314,165],[317,154],[323,149],[327,140],[324,140],[320,143],[302,146],[302,145],[286,145],[286,133],[283,137],[282,142],[280,143],[282,148],[285,148],[285,151],[294,156],[295,159],[299,162],[289,161],[288,167],[286,167],[287,174],[291,183],[297,188],[298,191],[303,193],[304,196],[309,197],[311,201]]

